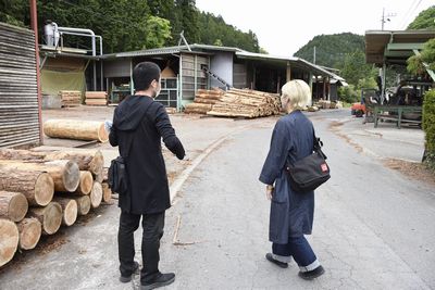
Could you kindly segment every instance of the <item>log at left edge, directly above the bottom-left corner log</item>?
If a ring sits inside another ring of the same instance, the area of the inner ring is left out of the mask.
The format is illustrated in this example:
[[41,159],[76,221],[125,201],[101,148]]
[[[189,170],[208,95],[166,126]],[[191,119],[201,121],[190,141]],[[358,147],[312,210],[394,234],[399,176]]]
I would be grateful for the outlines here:
[[20,222],[26,216],[27,210],[28,202],[23,193],[0,191],[0,217]]

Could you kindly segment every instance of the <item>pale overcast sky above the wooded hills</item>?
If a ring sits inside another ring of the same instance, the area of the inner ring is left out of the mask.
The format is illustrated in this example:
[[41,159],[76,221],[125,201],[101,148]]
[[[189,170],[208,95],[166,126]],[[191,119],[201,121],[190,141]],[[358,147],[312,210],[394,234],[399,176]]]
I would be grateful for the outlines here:
[[381,29],[382,11],[396,14],[385,29],[402,30],[435,0],[197,0],[201,11],[251,29],[269,53],[288,56],[316,35]]

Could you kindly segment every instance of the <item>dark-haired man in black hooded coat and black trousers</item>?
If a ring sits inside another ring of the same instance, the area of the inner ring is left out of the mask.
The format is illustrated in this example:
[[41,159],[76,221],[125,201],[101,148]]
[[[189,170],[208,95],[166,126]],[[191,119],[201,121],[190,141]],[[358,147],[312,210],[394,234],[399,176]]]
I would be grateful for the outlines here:
[[165,108],[153,99],[160,92],[160,68],[142,62],[133,71],[136,93],[128,96],[115,109],[110,143],[119,146],[128,175],[128,190],[120,194],[120,230],[117,235],[122,282],[129,282],[138,272],[134,261],[134,231],[142,217],[142,269],[140,289],[170,285],[175,274],[159,270],[160,239],[163,236],[164,212],[171,206],[166,168],[161,139],[179,160],[185,156]]

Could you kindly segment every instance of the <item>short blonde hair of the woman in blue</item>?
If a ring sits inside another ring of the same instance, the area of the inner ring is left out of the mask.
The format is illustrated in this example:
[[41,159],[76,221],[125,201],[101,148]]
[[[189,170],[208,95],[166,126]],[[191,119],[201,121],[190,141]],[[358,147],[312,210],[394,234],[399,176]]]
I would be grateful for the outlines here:
[[294,79],[282,88],[281,103],[286,109],[291,105],[294,109],[303,109],[311,101],[311,89],[306,81]]

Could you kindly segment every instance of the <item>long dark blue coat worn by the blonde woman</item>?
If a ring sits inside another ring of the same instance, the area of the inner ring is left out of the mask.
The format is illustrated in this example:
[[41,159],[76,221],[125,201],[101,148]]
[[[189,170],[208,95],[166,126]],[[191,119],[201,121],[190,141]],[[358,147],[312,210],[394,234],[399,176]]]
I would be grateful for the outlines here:
[[275,182],[271,202],[269,239],[286,244],[288,237],[310,235],[314,214],[314,191],[290,189],[286,161],[295,162],[312,153],[313,125],[300,111],[278,119],[273,129],[271,148],[260,175],[266,185]]

